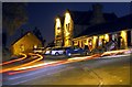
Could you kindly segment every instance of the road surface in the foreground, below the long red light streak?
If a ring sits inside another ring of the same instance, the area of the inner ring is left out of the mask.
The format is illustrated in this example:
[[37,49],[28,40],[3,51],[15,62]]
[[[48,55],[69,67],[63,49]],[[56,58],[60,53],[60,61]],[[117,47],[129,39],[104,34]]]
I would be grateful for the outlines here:
[[3,74],[3,85],[130,85],[131,57],[98,57]]

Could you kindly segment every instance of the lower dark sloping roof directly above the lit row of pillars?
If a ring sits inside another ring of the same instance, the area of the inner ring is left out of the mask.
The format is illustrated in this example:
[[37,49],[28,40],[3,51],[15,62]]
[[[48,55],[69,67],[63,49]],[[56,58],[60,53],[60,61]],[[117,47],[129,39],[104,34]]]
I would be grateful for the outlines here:
[[105,33],[125,30],[127,28],[132,29],[132,14],[119,18],[117,21],[113,21],[113,22],[101,23],[101,24],[89,26],[78,36],[105,34]]

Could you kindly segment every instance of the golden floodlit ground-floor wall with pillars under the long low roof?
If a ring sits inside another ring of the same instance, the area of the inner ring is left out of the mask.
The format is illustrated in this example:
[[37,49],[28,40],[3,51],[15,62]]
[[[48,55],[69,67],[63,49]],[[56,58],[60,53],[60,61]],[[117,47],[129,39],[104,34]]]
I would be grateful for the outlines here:
[[[128,48],[128,30],[119,31],[114,33],[106,33],[106,34],[95,35],[89,37],[80,36],[80,37],[74,39],[73,41],[74,41],[74,45],[78,45],[79,47],[84,47],[84,45],[88,45],[89,50],[91,51],[94,48],[102,48],[107,43],[109,43],[111,41],[110,34],[111,36],[116,35],[116,40],[113,37],[111,39],[117,42],[118,48]],[[132,36],[132,33],[130,36]],[[130,41],[132,42],[132,40]]]

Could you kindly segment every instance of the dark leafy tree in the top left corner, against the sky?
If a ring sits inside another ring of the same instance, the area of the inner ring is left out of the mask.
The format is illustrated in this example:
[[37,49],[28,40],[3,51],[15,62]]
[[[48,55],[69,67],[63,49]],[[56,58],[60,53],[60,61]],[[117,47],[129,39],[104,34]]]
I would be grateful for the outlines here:
[[18,30],[21,25],[25,24],[28,21],[26,3],[11,3],[6,2],[2,6],[2,23],[3,29],[7,30],[9,35],[12,35],[15,30]]

